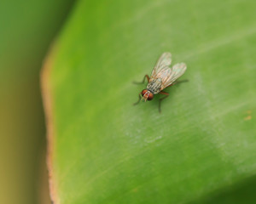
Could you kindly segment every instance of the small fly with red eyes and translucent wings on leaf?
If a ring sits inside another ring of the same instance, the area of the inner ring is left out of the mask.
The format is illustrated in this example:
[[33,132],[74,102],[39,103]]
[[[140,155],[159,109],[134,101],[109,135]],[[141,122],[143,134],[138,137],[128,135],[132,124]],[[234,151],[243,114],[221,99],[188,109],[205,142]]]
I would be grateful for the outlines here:
[[163,53],[156,64],[154,65],[154,69],[151,73],[151,77],[145,75],[143,78],[143,82],[135,82],[137,84],[144,83],[145,79],[148,80],[148,86],[146,89],[143,89],[142,92],[139,93],[139,99],[137,105],[141,99],[145,102],[147,100],[152,100],[154,98],[154,94],[163,94],[166,95],[159,101],[159,111],[160,109],[160,102],[163,99],[166,99],[169,94],[163,92],[162,90],[167,87],[171,87],[172,85],[176,84],[177,82],[187,82],[188,80],[183,81],[176,81],[178,77],[181,77],[183,73],[187,69],[187,65],[185,63],[178,63],[170,67],[172,63],[172,54],[171,53]]

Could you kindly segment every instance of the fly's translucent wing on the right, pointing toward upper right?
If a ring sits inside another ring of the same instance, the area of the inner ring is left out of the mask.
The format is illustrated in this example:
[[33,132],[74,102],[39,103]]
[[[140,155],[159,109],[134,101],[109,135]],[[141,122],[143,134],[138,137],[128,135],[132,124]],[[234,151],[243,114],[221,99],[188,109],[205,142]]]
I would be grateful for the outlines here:
[[[169,68],[169,67],[168,67]],[[170,71],[163,71],[161,74],[162,86],[161,89],[164,89],[171,85],[173,82],[177,80],[177,78],[181,77],[183,73],[187,70],[187,65],[185,63],[178,63],[173,65],[172,68],[169,68]],[[165,69],[163,69],[165,70]],[[164,77],[165,76],[165,77]]]

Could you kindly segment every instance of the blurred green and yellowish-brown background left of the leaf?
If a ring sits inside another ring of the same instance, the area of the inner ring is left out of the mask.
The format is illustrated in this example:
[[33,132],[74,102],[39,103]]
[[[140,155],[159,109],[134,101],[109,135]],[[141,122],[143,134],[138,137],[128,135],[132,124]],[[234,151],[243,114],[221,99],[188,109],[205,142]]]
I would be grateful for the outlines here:
[[1,204],[49,203],[39,72],[73,3],[0,1]]

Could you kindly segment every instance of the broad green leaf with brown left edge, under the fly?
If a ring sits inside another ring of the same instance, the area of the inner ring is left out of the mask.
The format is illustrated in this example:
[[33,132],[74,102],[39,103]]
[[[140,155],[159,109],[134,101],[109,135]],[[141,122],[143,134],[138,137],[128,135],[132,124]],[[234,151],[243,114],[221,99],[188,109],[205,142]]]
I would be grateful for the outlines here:
[[[44,82],[55,202],[218,203],[247,186],[255,9],[252,0],[80,1]],[[133,106],[146,85],[132,82],[166,51],[188,65],[189,82],[166,88],[161,114],[160,96]]]

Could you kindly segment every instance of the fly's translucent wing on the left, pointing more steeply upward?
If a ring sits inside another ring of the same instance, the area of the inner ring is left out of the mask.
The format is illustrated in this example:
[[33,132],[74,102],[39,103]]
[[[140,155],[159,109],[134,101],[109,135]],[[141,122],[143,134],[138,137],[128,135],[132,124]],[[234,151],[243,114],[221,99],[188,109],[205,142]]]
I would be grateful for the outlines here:
[[169,67],[172,63],[172,54],[163,53],[156,64],[154,65],[154,70],[152,71],[151,77],[155,78],[156,75],[164,68]]

